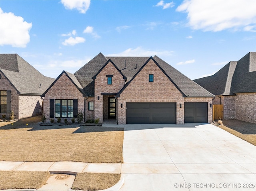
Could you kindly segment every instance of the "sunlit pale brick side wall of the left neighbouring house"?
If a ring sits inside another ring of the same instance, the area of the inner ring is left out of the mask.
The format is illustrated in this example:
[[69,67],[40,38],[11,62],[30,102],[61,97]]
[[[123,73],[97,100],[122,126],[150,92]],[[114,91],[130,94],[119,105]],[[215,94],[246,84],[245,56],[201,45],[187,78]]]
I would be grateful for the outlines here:
[[19,96],[19,119],[36,116],[42,111],[42,98],[41,96]]

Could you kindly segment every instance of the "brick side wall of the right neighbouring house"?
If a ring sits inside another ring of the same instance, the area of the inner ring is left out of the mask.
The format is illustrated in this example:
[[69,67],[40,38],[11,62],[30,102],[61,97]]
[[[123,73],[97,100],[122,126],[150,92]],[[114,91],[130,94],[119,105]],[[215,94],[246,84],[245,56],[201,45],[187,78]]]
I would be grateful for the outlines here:
[[256,123],[256,93],[237,93],[236,119]]

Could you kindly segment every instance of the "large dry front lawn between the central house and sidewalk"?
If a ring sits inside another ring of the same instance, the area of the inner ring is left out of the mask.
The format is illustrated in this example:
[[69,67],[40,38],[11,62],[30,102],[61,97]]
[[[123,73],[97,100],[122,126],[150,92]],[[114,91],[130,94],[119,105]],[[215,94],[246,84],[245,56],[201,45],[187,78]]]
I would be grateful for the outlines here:
[[1,125],[0,161],[123,162],[123,128],[27,123]]

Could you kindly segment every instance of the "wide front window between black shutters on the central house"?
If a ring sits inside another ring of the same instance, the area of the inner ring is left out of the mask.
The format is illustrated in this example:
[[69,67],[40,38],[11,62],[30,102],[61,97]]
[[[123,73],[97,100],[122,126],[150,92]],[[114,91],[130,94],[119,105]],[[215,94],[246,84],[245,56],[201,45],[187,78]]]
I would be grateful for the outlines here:
[[[75,117],[74,116],[74,102],[77,103],[77,100],[76,101],[72,100],[72,99],[68,99],[68,100],[67,99],[56,99],[56,100],[54,100],[55,117]],[[77,108],[76,108],[76,110],[77,110]]]

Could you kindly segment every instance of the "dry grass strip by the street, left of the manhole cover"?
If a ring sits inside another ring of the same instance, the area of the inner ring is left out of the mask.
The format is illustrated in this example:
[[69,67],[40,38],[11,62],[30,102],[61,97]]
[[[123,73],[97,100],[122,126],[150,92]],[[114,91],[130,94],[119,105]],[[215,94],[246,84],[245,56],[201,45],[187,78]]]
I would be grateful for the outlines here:
[[49,177],[49,172],[0,171],[0,189],[39,189]]

